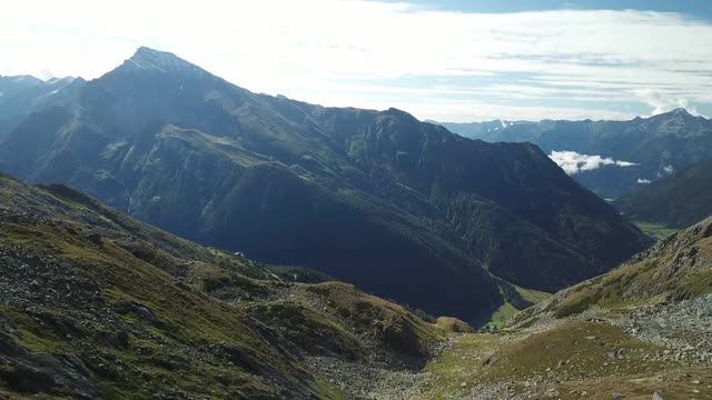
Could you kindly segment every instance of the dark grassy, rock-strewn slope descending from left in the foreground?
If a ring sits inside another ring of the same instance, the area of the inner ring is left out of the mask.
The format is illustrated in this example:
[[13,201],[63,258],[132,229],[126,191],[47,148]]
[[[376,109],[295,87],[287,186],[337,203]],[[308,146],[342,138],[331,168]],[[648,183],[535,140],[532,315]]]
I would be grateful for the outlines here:
[[352,398],[466,329],[300,273],[0,176],[0,398]]

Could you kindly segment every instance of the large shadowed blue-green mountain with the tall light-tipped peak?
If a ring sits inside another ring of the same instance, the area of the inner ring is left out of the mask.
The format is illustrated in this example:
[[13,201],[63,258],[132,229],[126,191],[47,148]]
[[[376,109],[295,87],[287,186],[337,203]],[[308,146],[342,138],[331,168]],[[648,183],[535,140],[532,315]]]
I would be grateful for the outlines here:
[[256,94],[147,48],[17,124],[0,170],[469,321],[649,244],[533,144]]

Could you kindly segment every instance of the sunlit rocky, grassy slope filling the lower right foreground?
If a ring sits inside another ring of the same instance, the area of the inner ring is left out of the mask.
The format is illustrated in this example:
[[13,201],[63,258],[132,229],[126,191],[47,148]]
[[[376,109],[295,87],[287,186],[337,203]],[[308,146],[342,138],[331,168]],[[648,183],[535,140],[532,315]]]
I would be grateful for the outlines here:
[[712,219],[521,312],[451,337],[412,399],[711,399]]

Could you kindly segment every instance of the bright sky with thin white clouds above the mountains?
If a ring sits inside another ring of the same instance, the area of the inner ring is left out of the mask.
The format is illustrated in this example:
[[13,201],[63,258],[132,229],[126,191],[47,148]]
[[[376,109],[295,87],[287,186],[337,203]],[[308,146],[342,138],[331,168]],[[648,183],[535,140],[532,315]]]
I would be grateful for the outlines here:
[[140,46],[255,92],[419,119],[712,117],[703,0],[9,0],[0,74],[95,79]]

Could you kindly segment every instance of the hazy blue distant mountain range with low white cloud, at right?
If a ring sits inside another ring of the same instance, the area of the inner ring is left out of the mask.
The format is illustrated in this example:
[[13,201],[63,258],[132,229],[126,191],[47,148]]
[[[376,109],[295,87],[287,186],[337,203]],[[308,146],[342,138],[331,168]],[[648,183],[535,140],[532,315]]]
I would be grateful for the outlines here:
[[[436,123],[472,139],[535,143],[610,199],[712,158],[712,121],[684,109],[630,121]],[[575,153],[553,153],[564,151]]]

